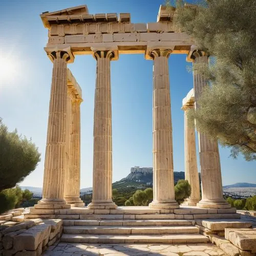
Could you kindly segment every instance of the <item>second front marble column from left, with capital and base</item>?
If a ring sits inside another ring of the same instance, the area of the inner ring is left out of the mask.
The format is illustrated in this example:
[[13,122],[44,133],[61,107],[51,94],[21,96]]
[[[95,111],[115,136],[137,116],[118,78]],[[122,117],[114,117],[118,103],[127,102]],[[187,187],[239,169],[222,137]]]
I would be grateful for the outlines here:
[[110,61],[114,51],[95,51],[97,60],[94,99],[92,209],[115,209],[112,201],[112,113]]

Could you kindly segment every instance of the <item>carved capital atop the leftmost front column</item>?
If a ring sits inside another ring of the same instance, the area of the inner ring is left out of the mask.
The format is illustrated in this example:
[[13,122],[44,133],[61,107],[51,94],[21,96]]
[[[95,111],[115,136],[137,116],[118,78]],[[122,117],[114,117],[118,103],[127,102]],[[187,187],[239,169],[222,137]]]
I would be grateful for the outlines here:
[[47,56],[53,62],[55,59],[64,59],[68,63],[74,62],[74,55],[71,52],[71,48],[45,48]]

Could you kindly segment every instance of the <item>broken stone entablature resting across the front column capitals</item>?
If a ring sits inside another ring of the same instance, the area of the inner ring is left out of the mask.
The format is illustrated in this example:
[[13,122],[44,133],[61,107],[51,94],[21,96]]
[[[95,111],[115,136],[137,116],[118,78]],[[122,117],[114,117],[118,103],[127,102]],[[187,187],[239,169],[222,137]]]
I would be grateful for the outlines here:
[[92,54],[91,47],[115,47],[119,53],[145,53],[147,47],[188,53],[193,38],[179,33],[172,15],[161,6],[156,23],[131,23],[130,13],[89,14],[87,6],[41,14],[49,30],[48,48],[71,47],[73,54]]

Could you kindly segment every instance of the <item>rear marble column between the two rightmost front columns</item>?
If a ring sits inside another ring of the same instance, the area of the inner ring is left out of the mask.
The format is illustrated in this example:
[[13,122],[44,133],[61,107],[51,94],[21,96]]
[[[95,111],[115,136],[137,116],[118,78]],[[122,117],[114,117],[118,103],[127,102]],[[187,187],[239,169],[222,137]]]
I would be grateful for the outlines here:
[[199,175],[197,169],[197,150],[195,126],[188,125],[187,111],[194,108],[194,103],[184,105],[184,145],[185,145],[185,179],[191,186],[191,195],[183,203],[184,205],[196,206],[201,200]]

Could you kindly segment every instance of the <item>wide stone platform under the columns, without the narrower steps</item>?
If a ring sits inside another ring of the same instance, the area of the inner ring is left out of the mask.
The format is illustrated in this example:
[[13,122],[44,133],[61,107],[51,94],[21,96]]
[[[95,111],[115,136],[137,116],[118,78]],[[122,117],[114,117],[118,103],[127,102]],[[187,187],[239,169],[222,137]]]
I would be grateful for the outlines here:
[[71,207],[70,209],[37,209],[31,207],[26,219],[239,219],[236,208],[206,209],[181,205],[178,209],[153,209],[148,206],[120,206],[117,209],[89,209]]

